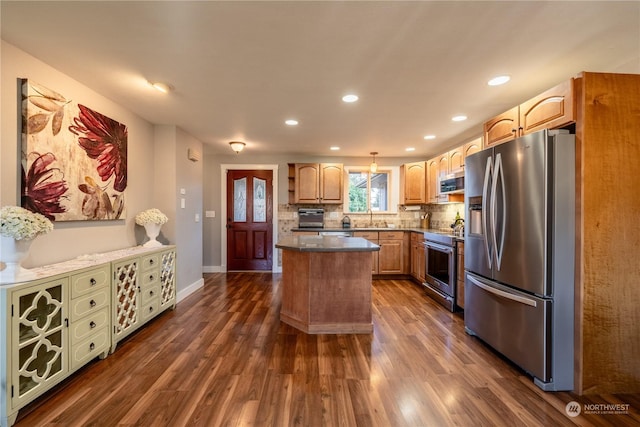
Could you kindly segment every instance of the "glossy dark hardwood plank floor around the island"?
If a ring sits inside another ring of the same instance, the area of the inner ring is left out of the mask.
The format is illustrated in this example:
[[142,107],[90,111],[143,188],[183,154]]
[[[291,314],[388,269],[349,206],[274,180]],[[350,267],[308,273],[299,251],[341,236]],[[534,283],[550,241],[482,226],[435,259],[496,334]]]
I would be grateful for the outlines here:
[[[23,409],[16,425],[640,425],[638,394],[542,392],[409,281],[374,281],[365,335],[281,323],[280,281],[205,275],[204,290]],[[571,401],[578,417],[565,413]],[[585,406],[612,403],[628,409]]]

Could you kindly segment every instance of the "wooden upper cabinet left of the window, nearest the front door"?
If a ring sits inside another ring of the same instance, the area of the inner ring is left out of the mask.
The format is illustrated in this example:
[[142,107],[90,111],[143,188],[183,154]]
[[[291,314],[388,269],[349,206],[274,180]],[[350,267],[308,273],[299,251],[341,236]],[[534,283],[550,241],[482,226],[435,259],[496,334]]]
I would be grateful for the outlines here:
[[340,163],[289,164],[289,203],[342,203]]

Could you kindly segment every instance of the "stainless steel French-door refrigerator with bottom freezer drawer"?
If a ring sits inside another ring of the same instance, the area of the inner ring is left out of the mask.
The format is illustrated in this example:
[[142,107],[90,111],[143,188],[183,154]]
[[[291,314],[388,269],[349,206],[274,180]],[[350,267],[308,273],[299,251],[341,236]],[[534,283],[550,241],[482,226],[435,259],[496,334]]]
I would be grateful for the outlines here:
[[465,208],[465,329],[543,390],[573,390],[574,135],[467,157]]

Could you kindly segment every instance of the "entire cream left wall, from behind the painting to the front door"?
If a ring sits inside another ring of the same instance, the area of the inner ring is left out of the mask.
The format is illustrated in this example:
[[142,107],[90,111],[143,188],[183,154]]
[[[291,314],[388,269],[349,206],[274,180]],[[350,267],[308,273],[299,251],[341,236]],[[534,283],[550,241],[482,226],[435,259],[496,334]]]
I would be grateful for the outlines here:
[[[160,240],[178,247],[178,298],[202,284],[202,162],[187,159],[187,148],[202,151],[202,143],[175,126],[154,126],[37,58],[4,41],[0,51],[0,205],[20,205],[21,107],[19,79],[28,78],[68,99],[99,111],[128,128],[126,215],[116,221],[55,222],[54,230],[33,242],[25,267],[47,265],[136,246],[145,241],[135,224],[136,213],[151,207],[169,217]],[[179,209],[179,189],[185,188],[188,209]]]

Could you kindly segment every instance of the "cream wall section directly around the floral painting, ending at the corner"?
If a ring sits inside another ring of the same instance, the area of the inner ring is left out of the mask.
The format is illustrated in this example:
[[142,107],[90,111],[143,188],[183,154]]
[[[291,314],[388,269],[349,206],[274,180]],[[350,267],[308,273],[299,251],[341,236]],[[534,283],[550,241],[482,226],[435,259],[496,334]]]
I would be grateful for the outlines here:
[[2,42],[1,51],[0,204],[20,204],[20,103],[18,79],[28,78],[68,99],[89,106],[128,127],[126,218],[116,221],[56,222],[54,231],[33,242],[25,267],[46,265],[86,253],[104,252],[141,243],[134,216],[151,203],[153,186],[153,126],[122,106],[92,91],[56,69]]

